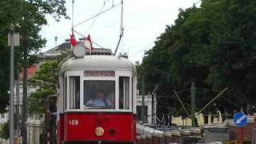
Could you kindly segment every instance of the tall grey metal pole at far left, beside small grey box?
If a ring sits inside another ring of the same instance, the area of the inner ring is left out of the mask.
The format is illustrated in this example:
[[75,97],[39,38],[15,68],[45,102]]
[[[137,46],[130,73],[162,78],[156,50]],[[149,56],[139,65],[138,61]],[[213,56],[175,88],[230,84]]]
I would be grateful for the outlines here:
[[14,24],[10,25],[10,144],[14,144]]

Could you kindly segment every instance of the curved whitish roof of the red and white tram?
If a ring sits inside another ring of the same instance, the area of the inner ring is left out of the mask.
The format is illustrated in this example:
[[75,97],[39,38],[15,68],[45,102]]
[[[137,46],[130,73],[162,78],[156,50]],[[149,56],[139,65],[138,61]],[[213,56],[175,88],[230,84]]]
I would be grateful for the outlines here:
[[60,72],[66,70],[130,70],[136,68],[127,58],[114,55],[85,55],[83,58],[70,58],[62,63]]

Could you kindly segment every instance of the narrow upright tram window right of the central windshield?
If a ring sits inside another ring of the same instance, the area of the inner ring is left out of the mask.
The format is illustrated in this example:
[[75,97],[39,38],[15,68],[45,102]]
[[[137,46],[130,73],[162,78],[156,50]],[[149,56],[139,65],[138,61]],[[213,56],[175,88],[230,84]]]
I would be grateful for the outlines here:
[[119,77],[119,109],[129,109],[129,77]]

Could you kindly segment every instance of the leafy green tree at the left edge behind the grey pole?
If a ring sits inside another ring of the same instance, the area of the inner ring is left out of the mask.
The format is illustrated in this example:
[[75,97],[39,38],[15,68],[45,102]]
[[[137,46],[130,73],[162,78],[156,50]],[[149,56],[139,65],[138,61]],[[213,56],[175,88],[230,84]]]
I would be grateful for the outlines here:
[[64,0],[5,0],[0,1],[0,113],[5,111],[9,101],[9,48],[7,46],[7,34],[10,24],[14,23],[15,31],[22,36],[22,46],[15,50],[15,74],[21,70],[22,53],[24,47],[27,49],[29,65],[36,62],[36,58],[30,52],[37,52],[46,39],[39,35],[42,26],[46,25],[46,14],[50,14],[57,21],[66,16]]

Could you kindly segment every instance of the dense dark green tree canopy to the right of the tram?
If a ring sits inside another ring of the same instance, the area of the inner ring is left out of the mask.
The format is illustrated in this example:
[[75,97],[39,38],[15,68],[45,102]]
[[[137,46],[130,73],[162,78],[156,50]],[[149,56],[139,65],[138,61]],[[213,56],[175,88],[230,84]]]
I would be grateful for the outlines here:
[[228,87],[204,112],[231,112],[255,102],[255,7],[254,0],[202,0],[199,8],[180,10],[139,68],[147,90],[159,83],[159,113],[174,114],[181,106],[173,90],[182,90],[178,94],[190,109],[192,82],[198,87],[198,110]]

